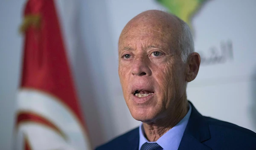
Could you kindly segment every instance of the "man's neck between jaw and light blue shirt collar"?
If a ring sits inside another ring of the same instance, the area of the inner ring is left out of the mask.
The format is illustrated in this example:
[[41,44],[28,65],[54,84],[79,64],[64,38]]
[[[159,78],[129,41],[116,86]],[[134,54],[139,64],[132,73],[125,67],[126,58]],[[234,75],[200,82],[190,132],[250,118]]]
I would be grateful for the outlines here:
[[161,136],[163,136],[164,133],[172,129],[172,127],[177,125],[177,123],[180,122],[180,120],[183,119],[184,116],[186,116],[189,110],[189,104],[186,100],[186,96],[185,99],[179,99],[172,108],[173,109],[168,112],[168,115],[166,115],[166,117],[157,119],[156,121],[151,123],[143,122],[145,137],[148,139],[148,141],[157,141]]

